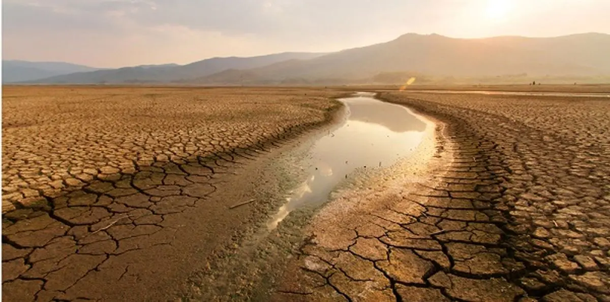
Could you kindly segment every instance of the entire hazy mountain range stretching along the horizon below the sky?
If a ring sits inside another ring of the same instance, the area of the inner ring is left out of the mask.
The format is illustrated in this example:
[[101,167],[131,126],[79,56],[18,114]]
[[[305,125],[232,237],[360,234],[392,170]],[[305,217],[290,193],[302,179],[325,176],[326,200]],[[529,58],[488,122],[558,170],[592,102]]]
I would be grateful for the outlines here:
[[[610,75],[608,54],[610,35],[605,33],[475,39],[407,33],[386,43],[327,54],[285,52],[247,58],[210,58],[187,65],[85,69],[29,82],[274,85],[398,83],[415,75],[419,79],[600,77]],[[7,80],[5,64],[3,61],[3,82],[28,81]],[[16,78],[16,74],[8,76],[8,79]]]

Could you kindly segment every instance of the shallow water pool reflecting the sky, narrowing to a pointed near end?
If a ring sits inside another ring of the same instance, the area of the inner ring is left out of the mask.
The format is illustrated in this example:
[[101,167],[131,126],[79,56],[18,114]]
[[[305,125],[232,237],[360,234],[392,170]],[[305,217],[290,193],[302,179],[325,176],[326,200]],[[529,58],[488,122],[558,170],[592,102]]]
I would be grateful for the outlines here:
[[425,122],[407,108],[381,102],[374,96],[356,93],[341,99],[348,111],[347,119],[314,143],[303,166],[309,176],[272,217],[267,225],[270,230],[294,209],[325,202],[337,184],[354,170],[391,166],[422,142]]

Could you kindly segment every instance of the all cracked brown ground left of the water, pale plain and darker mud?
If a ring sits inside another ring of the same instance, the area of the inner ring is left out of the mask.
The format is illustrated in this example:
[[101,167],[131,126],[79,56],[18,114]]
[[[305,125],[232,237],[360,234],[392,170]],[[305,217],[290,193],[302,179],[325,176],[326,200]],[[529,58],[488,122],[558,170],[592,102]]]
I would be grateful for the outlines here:
[[3,89],[6,301],[167,300],[253,219],[228,208],[263,185],[254,159],[340,107],[306,89]]

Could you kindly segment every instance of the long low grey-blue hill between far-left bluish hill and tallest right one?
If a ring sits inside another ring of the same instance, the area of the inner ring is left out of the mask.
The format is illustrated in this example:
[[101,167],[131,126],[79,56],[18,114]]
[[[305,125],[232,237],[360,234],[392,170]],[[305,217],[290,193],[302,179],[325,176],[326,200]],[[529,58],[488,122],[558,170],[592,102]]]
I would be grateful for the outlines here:
[[48,77],[32,83],[130,83],[130,82],[178,82],[209,76],[227,69],[258,68],[290,59],[309,59],[323,54],[309,52],[284,52],[258,57],[209,58],[187,65],[134,66],[92,72],[77,72]]

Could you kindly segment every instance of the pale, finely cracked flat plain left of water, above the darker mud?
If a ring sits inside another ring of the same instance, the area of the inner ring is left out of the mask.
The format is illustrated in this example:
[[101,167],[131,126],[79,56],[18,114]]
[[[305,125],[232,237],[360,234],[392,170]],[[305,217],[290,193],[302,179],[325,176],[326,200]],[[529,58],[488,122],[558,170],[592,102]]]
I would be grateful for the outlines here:
[[248,149],[323,120],[331,108],[324,95],[9,86],[2,102],[2,212],[141,166]]

